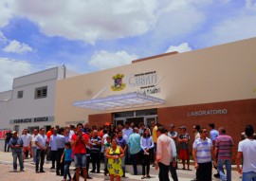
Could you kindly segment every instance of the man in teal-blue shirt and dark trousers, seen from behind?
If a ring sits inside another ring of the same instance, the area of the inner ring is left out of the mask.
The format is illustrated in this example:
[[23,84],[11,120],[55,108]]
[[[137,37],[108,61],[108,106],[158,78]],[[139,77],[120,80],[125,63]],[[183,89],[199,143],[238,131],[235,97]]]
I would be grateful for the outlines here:
[[137,156],[141,151],[140,136],[138,135],[137,127],[134,128],[133,134],[129,137],[127,144],[133,161],[134,174],[137,175]]

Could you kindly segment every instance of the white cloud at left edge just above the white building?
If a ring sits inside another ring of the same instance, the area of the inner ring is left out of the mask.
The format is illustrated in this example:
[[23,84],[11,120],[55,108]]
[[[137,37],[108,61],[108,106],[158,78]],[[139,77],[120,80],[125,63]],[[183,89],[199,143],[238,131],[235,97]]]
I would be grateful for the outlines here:
[[13,78],[26,75],[31,71],[30,64],[14,61],[0,57],[0,92],[11,90]]

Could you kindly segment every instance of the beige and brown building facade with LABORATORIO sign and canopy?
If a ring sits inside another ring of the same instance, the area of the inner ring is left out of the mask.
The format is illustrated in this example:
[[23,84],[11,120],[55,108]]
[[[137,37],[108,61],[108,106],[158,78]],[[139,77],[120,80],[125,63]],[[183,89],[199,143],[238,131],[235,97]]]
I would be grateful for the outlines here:
[[101,126],[155,120],[227,128],[238,143],[256,127],[256,38],[167,53],[57,82],[55,123]]

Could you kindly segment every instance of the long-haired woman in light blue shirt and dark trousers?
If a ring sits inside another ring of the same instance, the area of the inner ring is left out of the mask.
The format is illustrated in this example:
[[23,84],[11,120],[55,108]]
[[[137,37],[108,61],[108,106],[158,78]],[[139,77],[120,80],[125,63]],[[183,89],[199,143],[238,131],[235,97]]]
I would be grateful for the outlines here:
[[[149,128],[146,128],[144,130],[143,136],[141,136],[140,139],[140,147],[143,151],[142,154],[142,177],[141,179],[144,179],[146,177],[150,178],[150,155],[152,153],[152,149],[154,148],[154,141],[152,136],[150,135]],[[145,169],[147,168],[147,176]]]

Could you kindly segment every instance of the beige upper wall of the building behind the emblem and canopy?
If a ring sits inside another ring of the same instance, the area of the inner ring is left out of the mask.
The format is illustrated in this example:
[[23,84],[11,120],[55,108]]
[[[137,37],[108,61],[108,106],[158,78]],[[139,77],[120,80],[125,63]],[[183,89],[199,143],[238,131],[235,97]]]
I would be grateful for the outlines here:
[[106,89],[98,98],[139,90],[139,87],[130,88],[126,85],[124,90],[112,91],[112,77],[117,74],[123,74],[122,81],[127,84],[127,79],[132,74],[156,71],[157,81],[163,78],[155,86],[160,88],[160,93],[153,96],[166,100],[164,105],[157,107],[254,99],[255,45],[256,38],[253,38],[155,59],[149,58],[147,61],[57,81],[55,123],[62,125],[66,121],[87,121],[90,114],[106,113],[72,105],[76,100],[92,99],[104,87]]

